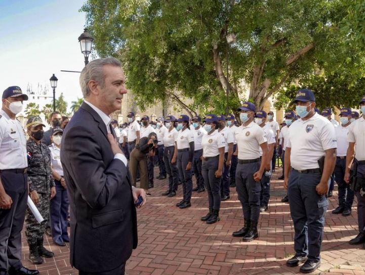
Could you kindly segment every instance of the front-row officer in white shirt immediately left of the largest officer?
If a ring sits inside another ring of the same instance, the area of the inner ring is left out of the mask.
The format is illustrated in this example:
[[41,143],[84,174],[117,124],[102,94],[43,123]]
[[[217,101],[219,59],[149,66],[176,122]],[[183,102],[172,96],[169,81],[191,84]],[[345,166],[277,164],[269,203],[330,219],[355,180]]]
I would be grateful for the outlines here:
[[[254,122],[256,107],[251,102],[244,102],[239,118],[243,123],[236,134],[238,164],[236,170],[236,190],[238,200],[244,211],[244,227],[233,232],[234,237],[244,237],[244,242],[250,242],[259,237],[257,223],[260,216],[260,180],[265,172],[270,170],[268,146],[264,130]],[[260,162],[260,148],[262,160]]]

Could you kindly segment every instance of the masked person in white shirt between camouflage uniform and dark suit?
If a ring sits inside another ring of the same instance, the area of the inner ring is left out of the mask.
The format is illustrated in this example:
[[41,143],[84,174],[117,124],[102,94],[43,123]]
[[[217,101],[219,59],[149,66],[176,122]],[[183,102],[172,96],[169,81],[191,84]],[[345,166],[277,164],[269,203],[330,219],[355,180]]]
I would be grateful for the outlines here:
[[60,127],[52,129],[50,146],[52,176],[55,179],[56,196],[51,200],[52,239],[56,245],[65,246],[70,239],[67,233],[68,196],[66,182],[60,159],[60,148],[63,130]]

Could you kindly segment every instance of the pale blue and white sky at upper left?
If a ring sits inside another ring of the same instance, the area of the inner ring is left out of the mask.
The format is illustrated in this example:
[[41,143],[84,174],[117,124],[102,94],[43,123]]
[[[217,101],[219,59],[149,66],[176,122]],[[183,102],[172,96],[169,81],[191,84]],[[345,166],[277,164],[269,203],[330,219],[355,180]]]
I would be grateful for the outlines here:
[[[38,83],[49,86],[58,78],[56,98],[63,93],[68,102],[82,98],[78,84],[84,67],[78,36],[83,33],[83,0],[0,0],[0,93],[13,85],[26,92]],[[90,61],[90,59],[89,59]],[[52,99],[49,99],[52,103]],[[0,103],[1,106],[1,103]]]

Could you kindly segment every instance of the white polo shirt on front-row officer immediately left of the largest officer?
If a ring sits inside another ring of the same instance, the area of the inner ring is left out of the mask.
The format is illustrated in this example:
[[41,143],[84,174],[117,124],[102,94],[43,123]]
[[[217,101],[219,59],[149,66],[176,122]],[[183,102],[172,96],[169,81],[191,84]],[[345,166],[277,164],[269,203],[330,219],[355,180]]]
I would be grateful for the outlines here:
[[267,142],[264,130],[255,122],[238,127],[236,133],[238,159],[257,159],[260,157],[260,145]]

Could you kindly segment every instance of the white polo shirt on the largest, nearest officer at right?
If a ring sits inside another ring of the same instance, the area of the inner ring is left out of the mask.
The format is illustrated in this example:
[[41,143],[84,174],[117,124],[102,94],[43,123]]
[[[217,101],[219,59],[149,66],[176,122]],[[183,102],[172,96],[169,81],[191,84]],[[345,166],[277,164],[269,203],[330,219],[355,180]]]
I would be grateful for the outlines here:
[[317,113],[308,120],[296,120],[289,127],[287,147],[291,148],[294,169],[319,168],[318,160],[325,156],[325,150],[337,148],[335,128]]

